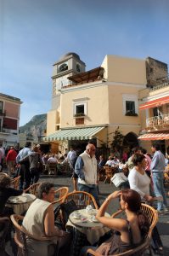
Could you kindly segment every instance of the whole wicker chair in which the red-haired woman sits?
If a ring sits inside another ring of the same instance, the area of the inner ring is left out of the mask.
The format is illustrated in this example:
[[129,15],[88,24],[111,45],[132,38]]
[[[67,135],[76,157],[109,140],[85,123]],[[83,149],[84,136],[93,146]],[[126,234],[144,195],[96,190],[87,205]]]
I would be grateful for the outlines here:
[[[149,248],[149,254],[152,255],[151,247],[150,247],[150,239],[152,236],[152,230],[155,228],[155,225],[157,224],[157,221],[158,221],[158,213],[155,211],[155,209],[153,207],[150,207],[149,205],[146,205],[146,204],[142,204],[141,209],[144,213],[146,213],[147,217],[149,218],[150,227],[149,227],[149,234],[148,234],[147,238],[138,247],[130,249],[125,253],[115,254],[115,256],[133,255],[135,253],[136,253],[135,255],[137,255],[137,253],[138,253],[138,255],[142,255],[142,253],[144,253],[145,250],[148,248]],[[121,212],[123,212],[123,211],[119,210],[119,211],[113,213],[111,217],[115,218]],[[102,256],[100,253],[96,253],[95,251],[93,251],[93,249],[88,249],[87,253],[90,253],[91,255],[94,255],[94,256]]]

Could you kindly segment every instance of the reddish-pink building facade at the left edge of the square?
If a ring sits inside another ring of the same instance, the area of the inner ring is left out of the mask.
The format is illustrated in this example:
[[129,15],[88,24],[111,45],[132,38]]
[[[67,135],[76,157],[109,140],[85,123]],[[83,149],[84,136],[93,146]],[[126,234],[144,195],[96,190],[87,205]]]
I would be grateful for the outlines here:
[[19,98],[0,93],[0,143],[4,148],[19,143],[21,103]]

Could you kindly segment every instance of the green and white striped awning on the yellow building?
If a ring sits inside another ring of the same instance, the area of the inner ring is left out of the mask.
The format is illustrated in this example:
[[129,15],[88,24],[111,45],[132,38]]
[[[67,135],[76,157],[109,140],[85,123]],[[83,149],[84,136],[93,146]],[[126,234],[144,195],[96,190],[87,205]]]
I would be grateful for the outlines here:
[[57,131],[43,138],[43,141],[64,141],[64,140],[88,140],[91,139],[99,131],[102,131],[104,126],[87,127],[87,128],[74,128]]

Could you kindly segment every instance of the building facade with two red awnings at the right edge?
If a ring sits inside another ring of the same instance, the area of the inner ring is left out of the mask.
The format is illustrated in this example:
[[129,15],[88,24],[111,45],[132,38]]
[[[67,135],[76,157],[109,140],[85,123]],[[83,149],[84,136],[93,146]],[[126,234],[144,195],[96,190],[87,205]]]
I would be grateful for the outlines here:
[[[144,148],[152,141],[161,143],[163,152],[169,150],[169,82],[140,91],[142,135],[138,137]],[[168,149],[167,149],[168,148]]]

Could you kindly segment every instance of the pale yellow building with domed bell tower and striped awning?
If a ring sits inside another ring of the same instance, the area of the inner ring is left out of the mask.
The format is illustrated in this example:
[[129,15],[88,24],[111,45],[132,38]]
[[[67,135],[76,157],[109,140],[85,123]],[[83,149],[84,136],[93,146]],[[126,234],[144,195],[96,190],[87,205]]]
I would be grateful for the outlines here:
[[[85,64],[74,53],[56,62],[45,138],[53,151],[64,152],[72,143],[84,147],[89,139],[98,148],[110,148],[118,127],[124,136],[123,147],[136,146],[141,131],[138,93],[147,88],[148,80],[155,79],[148,72],[152,60],[106,55],[100,67],[87,72],[77,72],[76,67],[83,71]],[[66,69],[60,71],[59,67]],[[156,65],[155,73],[165,73],[164,69]]]

